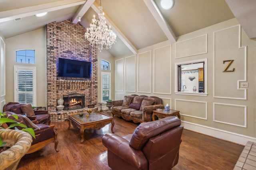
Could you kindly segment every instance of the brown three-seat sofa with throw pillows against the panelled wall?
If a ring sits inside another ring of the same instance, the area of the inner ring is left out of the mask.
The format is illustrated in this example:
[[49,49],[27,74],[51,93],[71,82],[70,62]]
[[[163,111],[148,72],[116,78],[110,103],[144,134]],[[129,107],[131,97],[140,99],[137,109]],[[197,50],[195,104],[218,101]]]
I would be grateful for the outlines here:
[[116,115],[128,121],[132,120],[135,123],[152,121],[152,111],[164,108],[161,98],[136,94],[124,96],[124,100],[114,100],[112,104],[113,116]]

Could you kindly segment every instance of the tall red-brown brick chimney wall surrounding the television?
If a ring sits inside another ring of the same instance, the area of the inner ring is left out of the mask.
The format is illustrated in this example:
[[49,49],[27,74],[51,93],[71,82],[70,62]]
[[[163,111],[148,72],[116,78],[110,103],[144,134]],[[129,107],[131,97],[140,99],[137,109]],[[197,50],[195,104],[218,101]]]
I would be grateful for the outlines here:
[[[46,25],[47,41],[47,109],[56,111],[57,100],[63,95],[85,95],[85,106],[97,104],[97,49],[90,47],[84,38],[86,29],[72,21],[53,22]],[[91,62],[91,78],[58,77],[58,58]],[[68,80],[66,80],[68,79]],[[90,102],[91,100],[91,102]]]

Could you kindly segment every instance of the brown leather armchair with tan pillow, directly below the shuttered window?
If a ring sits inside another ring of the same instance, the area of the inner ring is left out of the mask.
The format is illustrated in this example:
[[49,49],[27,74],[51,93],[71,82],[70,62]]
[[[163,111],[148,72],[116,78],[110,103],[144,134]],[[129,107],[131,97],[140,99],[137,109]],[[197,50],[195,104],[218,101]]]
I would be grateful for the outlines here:
[[31,121],[38,121],[38,123],[50,125],[50,114],[47,110],[34,111],[31,104],[17,103],[17,102],[8,102],[3,107],[4,111],[11,111],[16,114],[25,115]]

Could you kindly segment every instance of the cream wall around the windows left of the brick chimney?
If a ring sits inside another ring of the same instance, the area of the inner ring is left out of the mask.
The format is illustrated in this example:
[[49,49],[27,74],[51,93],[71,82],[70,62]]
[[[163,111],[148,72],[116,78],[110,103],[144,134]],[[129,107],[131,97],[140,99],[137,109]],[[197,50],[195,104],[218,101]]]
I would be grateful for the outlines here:
[[[21,49],[35,50],[35,64],[15,62],[15,52]],[[14,65],[36,66],[36,105],[46,106],[45,28],[6,39],[6,103],[14,102]]]

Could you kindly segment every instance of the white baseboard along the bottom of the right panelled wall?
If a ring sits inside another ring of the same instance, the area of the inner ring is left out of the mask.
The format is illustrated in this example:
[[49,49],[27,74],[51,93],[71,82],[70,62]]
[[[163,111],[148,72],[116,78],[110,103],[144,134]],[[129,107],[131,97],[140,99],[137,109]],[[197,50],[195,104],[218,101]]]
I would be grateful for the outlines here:
[[198,133],[216,137],[218,139],[230,141],[232,143],[237,143],[240,145],[246,145],[246,143],[248,141],[256,143],[256,138],[254,138],[254,137],[249,137],[249,136],[241,135],[238,133],[224,131],[221,129],[216,129],[213,127],[199,125],[199,124],[191,123],[191,122],[187,122],[187,121],[182,121],[181,124],[184,127],[184,129],[188,129],[191,131],[195,131]]

